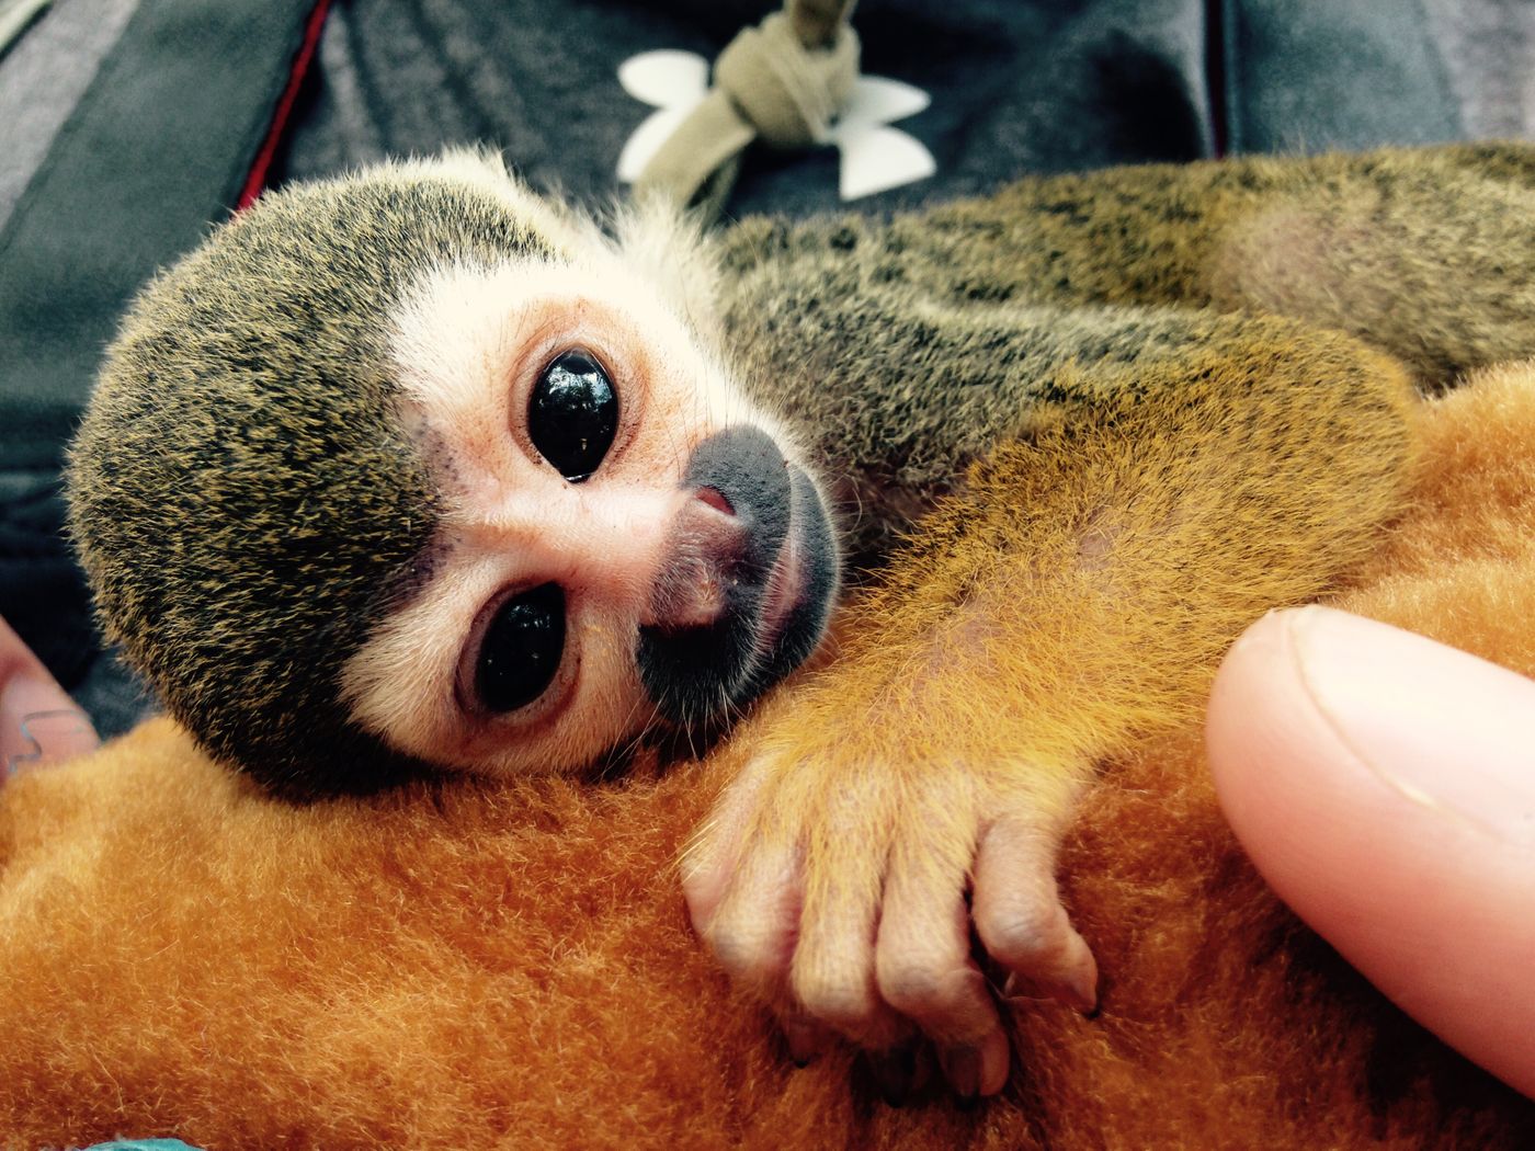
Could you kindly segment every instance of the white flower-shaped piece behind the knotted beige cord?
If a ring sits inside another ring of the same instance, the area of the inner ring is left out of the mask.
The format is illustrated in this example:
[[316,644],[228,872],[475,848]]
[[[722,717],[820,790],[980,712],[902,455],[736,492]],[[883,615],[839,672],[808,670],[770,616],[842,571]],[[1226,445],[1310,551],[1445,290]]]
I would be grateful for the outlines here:
[[[657,109],[634,129],[619,153],[619,180],[632,184],[709,92],[709,61],[695,52],[640,52],[619,64],[623,91]],[[841,153],[838,192],[858,200],[926,180],[938,170],[932,152],[896,127],[932,103],[927,92],[887,77],[861,75],[826,143]]]

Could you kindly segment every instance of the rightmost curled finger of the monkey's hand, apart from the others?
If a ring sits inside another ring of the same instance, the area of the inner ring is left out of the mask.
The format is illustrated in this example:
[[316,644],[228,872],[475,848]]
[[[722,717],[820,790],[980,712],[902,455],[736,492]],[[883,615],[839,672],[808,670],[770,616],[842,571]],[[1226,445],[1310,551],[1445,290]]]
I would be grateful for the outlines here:
[[1008,968],[1008,987],[1091,1011],[1098,962],[1061,905],[1055,879],[1059,836],[1038,813],[998,820],[975,856],[970,916],[987,955]]

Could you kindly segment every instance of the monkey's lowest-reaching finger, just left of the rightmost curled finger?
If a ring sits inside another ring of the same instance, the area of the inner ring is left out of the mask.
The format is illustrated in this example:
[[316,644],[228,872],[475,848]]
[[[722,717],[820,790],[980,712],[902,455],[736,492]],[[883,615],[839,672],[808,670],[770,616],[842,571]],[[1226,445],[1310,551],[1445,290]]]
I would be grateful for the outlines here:
[[964,904],[969,841],[950,858],[926,836],[904,836],[890,856],[875,944],[880,994],[938,1048],[938,1062],[964,1099],[1007,1082],[1007,1036],[981,968],[970,958]]

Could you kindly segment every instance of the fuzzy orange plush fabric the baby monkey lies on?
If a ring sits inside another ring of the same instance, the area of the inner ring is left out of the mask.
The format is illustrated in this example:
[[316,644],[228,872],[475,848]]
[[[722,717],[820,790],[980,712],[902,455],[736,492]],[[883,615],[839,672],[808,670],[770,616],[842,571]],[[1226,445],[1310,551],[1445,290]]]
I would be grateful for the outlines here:
[[[1342,605],[1535,674],[1535,367],[1432,405],[1414,510]],[[749,738],[749,732],[746,732]],[[797,1070],[692,939],[723,773],[289,807],[169,721],[0,792],[0,1146],[1535,1145],[1535,1103],[1276,904],[1197,729],[1110,766],[1064,858],[1102,1013],[1015,1013],[959,1111]]]

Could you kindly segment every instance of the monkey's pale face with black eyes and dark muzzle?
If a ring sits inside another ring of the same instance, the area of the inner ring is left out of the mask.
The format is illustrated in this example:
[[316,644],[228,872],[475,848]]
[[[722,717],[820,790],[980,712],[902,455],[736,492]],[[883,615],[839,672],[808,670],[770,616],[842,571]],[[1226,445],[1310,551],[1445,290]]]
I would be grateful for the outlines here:
[[566,252],[433,269],[390,322],[439,528],[342,697],[433,763],[583,764],[717,723],[814,651],[834,594],[784,436],[622,253]]

